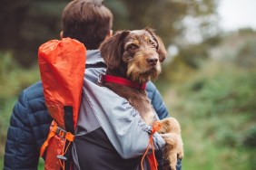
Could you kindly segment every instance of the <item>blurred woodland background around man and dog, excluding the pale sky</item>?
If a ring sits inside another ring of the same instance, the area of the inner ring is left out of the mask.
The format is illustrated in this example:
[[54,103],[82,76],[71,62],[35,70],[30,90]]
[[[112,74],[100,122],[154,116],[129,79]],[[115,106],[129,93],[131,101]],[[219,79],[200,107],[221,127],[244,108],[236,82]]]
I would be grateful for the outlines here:
[[[67,0],[0,5],[0,169],[21,90],[40,80],[37,50],[59,39]],[[169,52],[155,81],[182,125],[184,170],[256,169],[256,33],[224,32],[218,0],[105,0],[113,31],[150,26]],[[43,169],[40,161],[39,169]]]

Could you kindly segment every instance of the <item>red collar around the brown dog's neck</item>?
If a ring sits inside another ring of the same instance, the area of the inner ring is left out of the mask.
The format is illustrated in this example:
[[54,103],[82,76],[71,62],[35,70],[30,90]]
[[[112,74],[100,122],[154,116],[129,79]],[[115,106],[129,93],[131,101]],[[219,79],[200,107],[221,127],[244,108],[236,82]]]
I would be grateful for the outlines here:
[[112,75],[101,74],[100,77],[99,77],[99,81],[101,83],[113,82],[113,83],[116,83],[116,84],[121,84],[123,86],[128,86],[128,87],[136,88],[136,89],[139,89],[139,90],[145,90],[146,89],[146,83],[137,83],[137,82],[132,81],[132,80],[127,80],[127,79],[112,76]]

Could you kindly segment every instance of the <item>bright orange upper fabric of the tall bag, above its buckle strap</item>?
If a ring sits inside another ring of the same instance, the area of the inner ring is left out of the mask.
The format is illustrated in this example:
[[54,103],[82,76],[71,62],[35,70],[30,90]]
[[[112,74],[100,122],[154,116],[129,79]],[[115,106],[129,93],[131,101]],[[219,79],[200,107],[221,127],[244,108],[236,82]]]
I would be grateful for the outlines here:
[[51,40],[39,47],[38,64],[46,107],[64,127],[64,106],[73,106],[74,129],[78,118],[85,71],[86,49],[74,39]]

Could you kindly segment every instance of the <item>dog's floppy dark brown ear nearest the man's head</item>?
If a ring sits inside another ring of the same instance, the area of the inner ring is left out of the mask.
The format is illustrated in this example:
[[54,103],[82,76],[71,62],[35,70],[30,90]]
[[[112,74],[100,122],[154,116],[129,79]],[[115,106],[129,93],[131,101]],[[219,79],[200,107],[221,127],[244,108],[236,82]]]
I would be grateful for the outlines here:
[[123,55],[123,40],[130,31],[118,31],[100,45],[101,55],[110,69],[117,68]]

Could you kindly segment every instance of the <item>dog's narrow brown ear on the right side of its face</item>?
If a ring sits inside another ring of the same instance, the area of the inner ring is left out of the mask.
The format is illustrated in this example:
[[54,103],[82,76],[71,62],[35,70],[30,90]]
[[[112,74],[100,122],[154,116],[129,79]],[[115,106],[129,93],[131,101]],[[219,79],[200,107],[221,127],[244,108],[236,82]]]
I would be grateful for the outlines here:
[[159,61],[161,62],[164,61],[164,59],[168,56],[168,52],[164,47],[162,39],[154,33],[154,30],[152,28],[147,27],[147,28],[144,28],[144,30],[150,33],[153,36],[154,41],[157,42],[156,52],[159,55]]

